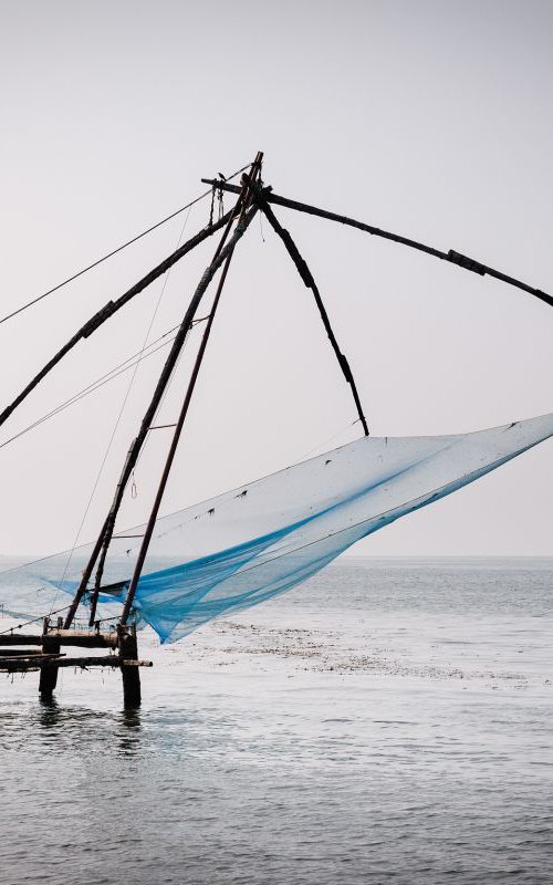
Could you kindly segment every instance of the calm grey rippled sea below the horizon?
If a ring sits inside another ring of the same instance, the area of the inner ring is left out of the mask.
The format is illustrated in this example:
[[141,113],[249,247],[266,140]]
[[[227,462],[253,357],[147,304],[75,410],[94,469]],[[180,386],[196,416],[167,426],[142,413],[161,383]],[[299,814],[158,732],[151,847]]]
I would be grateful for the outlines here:
[[142,634],[137,712],[2,677],[2,885],[551,883],[553,561],[342,562]]

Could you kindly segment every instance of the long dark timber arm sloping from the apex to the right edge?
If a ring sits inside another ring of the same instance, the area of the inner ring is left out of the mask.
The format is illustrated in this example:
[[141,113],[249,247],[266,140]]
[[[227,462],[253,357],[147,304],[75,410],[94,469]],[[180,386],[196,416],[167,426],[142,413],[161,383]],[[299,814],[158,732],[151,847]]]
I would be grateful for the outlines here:
[[[221,188],[221,190],[228,190],[230,194],[237,194],[239,190],[236,185],[228,185],[225,181],[219,181],[217,178],[202,178],[201,180],[207,185],[216,185],[218,188]],[[550,308],[553,308],[553,296],[547,294],[547,292],[543,292],[541,289],[534,289],[534,287],[521,282],[521,280],[517,280],[514,277],[510,277],[499,270],[489,268],[487,264],[482,264],[480,261],[476,261],[474,259],[468,258],[460,252],[456,252],[455,249],[450,249],[448,252],[442,252],[440,249],[435,249],[432,246],[426,246],[424,242],[411,240],[408,237],[401,237],[399,233],[392,233],[389,230],[383,230],[382,228],[373,227],[373,225],[365,225],[364,221],[356,221],[355,218],[348,218],[345,215],[337,215],[336,212],[328,212],[326,209],[320,209],[316,206],[311,206],[309,202],[290,200],[288,197],[281,197],[278,194],[273,194],[270,188],[263,188],[263,197],[268,202],[273,202],[276,206],[284,206],[286,209],[294,209],[298,212],[314,215],[317,218],[325,218],[328,221],[337,221],[340,225],[347,225],[348,227],[357,228],[357,230],[372,233],[374,237],[382,237],[385,240],[397,242],[400,246],[408,246],[409,249],[417,249],[419,252],[426,252],[428,256],[439,258],[441,261],[448,261],[450,264],[457,264],[465,270],[472,271],[472,273],[478,273],[480,277],[484,277],[486,274],[488,277],[493,277],[495,280],[501,280],[501,282],[508,283],[508,285],[514,285],[515,289],[522,289],[523,292],[534,295],[534,298],[540,299],[540,301],[543,301],[545,304],[549,304]]]

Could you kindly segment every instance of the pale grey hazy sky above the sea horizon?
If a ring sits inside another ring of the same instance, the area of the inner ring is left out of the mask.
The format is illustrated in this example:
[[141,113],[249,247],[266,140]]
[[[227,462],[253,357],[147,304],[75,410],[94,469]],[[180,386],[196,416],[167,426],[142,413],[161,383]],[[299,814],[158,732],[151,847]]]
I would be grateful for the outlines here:
[[[551,2],[2,0],[0,9],[2,314],[258,149],[276,192],[553,291]],[[208,208],[192,210],[185,237]],[[373,434],[457,433],[553,409],[551,308],[367,235],[279,216],[320,283]],[[181,225],[0,325],[0,402],[170,252]],[[213,248],[170,274],[150,337],[178,322]],[[160,288],[81,343],[0,438],[137,351]],[[83,541],[105,516],[164,353],[137,374]],[[191,345],[161,420],[175,419],[192,354]],[[128,378],[0,449],[0,553],[72,545]],[[346,442],[358,434],[354,418],[311,295],[255,221],[229,274],[163,511]],[[122,524],[147,513],[165,433],[152,435]],[[551,554],[552,468],[546,442],[356,552]]]

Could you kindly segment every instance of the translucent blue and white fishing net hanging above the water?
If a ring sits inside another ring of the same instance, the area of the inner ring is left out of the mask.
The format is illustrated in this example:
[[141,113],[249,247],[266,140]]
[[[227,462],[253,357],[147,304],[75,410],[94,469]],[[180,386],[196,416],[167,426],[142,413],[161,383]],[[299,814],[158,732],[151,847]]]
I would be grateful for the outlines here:
[[[457,436],[365,437],[164,517],[137,586],[135,614],[161,642],[175,642],[215,617],[296,586],[359,539],[552,435],[553,414]],[[121,612],[139,544],[128,535],[140,531],[114,537],[100,616]],[[44,614],[66,605],[65,593],[79,585],[90,549],[75,551],[69,570],[61,554],[1,575],[4,612]]]

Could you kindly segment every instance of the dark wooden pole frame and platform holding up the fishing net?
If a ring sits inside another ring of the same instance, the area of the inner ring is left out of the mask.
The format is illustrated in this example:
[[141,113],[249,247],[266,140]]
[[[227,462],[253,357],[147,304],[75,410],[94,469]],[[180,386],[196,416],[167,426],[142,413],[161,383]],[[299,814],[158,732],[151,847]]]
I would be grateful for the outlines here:
[[[227,279],[230,263],[232,261],[234,249],[258,211],[262,211],[264,214],[272,229],[282,240],[288,254],[294,262],[304,284],[313,293],[316,306],[321,314],[323,326],[336,355],[340,368],[351,387],[358,420],[361,421],[365,435],[368,435],[368,425],[363,412],[359,394],[349,364],[338,346],[328,319],[328,314],[326,313],[313,274],[305,263],[305,260],[302,258],[291,235],[276,219],[271,208],[272,206],[282,206],[288,209],[346,225],[369,235],[407,246],[418,251],[422,251],[434,258],[457,264],[458,267],[469,270],[473,273],[478,273],[479,275],[488,274],[501,280],[502,282],[507,282],[510,285],[514,285],[515,288],[534,295],[550,306],[553,306],[553,298],[546,292],[543,292],[540,289],[534,289],[526,283],[515,280],[514,278],[501,273],[500,271],[493,270],[492,268],[489,268],[479,261],[467,258],[466,256],[462,256],[452,249],[450,249],[448,252],[444,252],[435,249],[434,247],[417,242],[416,240],[382,230],[380,228],[366,225],[362,221],[356,221],[355,219],[346,216],[340,216],[335,212],[330,212],[315,206],[298,202],[295,200],[273,194],[272,188],[264,186],[262,183],[262,160],[263,154],[258,152],[253,163],[249,166],[249,171],[242,176],[239,187],[229,184],[222,178],[202,178],[202,181],[210,185],[213,197],[217,191],[219,194],[225,191],[237,196],[237,201],[232,209],[226,214],[222,214],[219,220],[216,222],[213,222],[211,217],[208,226],[204,228],[204,230],[179,247],[167,259],[165,259],[165,261],[160,262],[156,268],[149,271],[149,273],[143,277],[137,283],[135,283],[135,285],[133,285],[118,299],[107,302],[102,310],[95,313],[81,329],[76,331],[70,341],[56,354],[54,354],[54,356],[43,366],[43,368],[29,382],[23,391],[12,400],[12,403],[6,406],[6,408],[0,413],[0,426],[2,426],[14,412],[14,409],[28,397],[28,395],[40,384],[40,382],[52,371],[52,368],[58,365],[58,363],[71,350],[73,350],[73,347],[75,347],[81,341],[86,340],[90,335],[92,335],[101,325],[103,325],[104,322],[113,316],[114,313],[125,306],[133,298],[135,298],[135,295],[146,289],[177,261],[188,254],[196,246],[207,240],[217,231],[222,231],[221,239],[215,251],[213,258],[211,259],[211,262],[207,267],[200,282],[198,283],[189,306],[185,312],[178,332],[173,341],[170,352],[157,381],[152,400],[145,412],[138,434],[131,444],[127,457],[123,465],[119,481],[115,489],[112,506],[105,517],[104,523],[94,544],[88,563],[83,572],[74,598],[71,605],[67,606],[69,611],[65,615],[65,618],[58,618],[58,621],[53,623],[51,622],[50,617],[44,617],[41,634],[17,634],[13,632],[0,634],[0,671],[40,671],[39,690],[43,698],[51,697],[55,690],[60,667],[81,667],[85,669],[90,667],[109,667],[121,669],[125,707],[136,707],[140,704],[139,668],[152,666],[152,662],[140,660],[138,658],[138,644],[136,622],[134,621],[133,602],[148,552],[154,527],[158,518],[164,492],[169,479],[182,427],[188,415],[190,400],[206,353],[213,319],[219,305],[221,292]],[[166,425],[167,427],[174,428],[173,438],[169,445],[165,465],[161,470],[157,493],[152,506],[146,529],[144,535],[142,537],[140,549],[134,573],[131,581],[125,582],[126,598],[123,611],[118,618],[116,628],[105,632],[101,629],[101,622],[96,621],[96,606],[100,594],[108,590],[108,587],[105,587],[102,584],[104,565],[109,543],[114,534],[115,523],[125,489],[127,488],[133,469],[136,465],[147,435],[152,429],[155,429],[155,417],[159,404],[170,382],[173,371],[180,356],[188,331],[191,325],[198,321],[197,311],[200,302],[202,301],[209,283],[219,271],[219,281],[209,315],[208,317],[202,317],[207,319],[207,323],[204,327],[201,342],[191,371],[190,379],[188,382],[188,387],[185,393],[180,414],[174,425]],[[73,627],[75,614],[83,603],[90,603],[87,631],[75,629]],[[62,648],[65,647],[107,649],[107,655],[72,657],[67,656],[65,652],[62,652]]]

